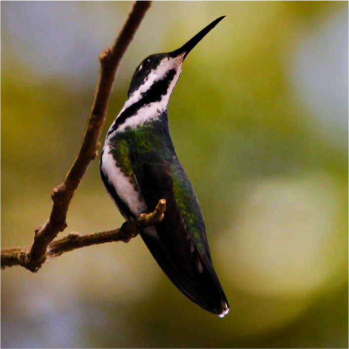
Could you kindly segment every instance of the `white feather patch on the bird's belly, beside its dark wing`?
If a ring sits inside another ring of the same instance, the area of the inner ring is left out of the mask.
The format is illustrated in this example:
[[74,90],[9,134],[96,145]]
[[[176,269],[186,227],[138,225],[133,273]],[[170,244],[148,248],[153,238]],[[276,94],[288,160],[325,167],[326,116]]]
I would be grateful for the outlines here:
[[102,155],[102,171],[108,176],[108,182],[114,186],[117,194],[127,204],[130,211],[137,215],[146,210],[146,204],[140,192],[134,189],[130,178],[124,175],[110,153],[110,145],[105,145]]

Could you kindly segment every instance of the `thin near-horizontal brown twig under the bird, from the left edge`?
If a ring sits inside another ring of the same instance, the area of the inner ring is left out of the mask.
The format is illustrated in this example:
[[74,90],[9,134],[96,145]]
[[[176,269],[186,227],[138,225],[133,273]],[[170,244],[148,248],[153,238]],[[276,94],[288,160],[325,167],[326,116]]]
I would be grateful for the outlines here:
[[[161,199],[156,206],[154,212],[149,214],[141,214],[138,223],[142,227],[147,227],[160,222],[164,218],[166,210],[166,200]],[[123,230],[123,231],[121,231]],[[52,241],[46,252],[46,257],[58,257],[65,252],[73,251],[82,247],[91,245],[103,244],[106,242],[124,241],[129,242],[131,237],[136,236],[140,230],[131,223],[127,223],[126,228],[118,228],[114,230],[102,231],[99,233],[80,235],[77,232],[72,232],[69,235]],[[1,250],[1,269],[7,266],[22,265],[28,268],[26,264],[26,254],[28,254],[30,246],[15,247]]]

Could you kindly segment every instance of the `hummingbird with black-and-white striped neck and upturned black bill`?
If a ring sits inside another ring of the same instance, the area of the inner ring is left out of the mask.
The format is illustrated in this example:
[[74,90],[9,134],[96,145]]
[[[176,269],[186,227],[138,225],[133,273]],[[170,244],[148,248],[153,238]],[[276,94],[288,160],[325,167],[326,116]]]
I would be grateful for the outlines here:
[[192,48],[225,16],[186,44],[146,57],[131,79],[128,99],[111,125],[99,170],[127,222],[166,200],[162,221],[140,236],[165,274],[189,300],[223,317],[229,305],[213,267],[204,218],[170,136],[167,107]]

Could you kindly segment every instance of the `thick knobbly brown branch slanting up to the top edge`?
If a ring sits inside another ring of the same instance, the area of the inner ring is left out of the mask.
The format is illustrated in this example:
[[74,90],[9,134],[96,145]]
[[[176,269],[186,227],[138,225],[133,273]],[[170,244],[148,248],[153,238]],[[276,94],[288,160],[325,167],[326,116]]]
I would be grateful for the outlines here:
[[[22,262],[18,264],[25,266],[31,271],[37,271],[42,266],[47,257],[46,251],[49,244],[60,231],[67,227],[66,216],[70,201],[89,163],[95,159],[100,146],[98,138],[105,121],[108,99],[116,71],[150,4],[151,1],[134,2],[129,17],[113,47],[107,48],[99,56],[101,70],[80,150],[64,181],[52,190],[53,207],[48,221],[35,230],[34,242],[29,250],[27,247],[21,249],[21,252],[18,252],[18,248],[10,249],[13,253],[16,251],[17,255],[21,256],[20,260]],[[4,259],[5,256],[8,257],[6,257],[6,261],[13,257],[11,254],[4,255]],[[2,261],[1,250],[1,265]]]

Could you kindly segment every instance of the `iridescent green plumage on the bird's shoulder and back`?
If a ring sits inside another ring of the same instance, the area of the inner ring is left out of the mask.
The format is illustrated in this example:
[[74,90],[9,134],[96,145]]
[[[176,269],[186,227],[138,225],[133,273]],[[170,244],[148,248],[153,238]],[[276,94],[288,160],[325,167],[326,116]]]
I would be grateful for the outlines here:
[[[136,129],[128,128],[122,133],[116,133],[110,142],[113,158],[118,167],[124,175],[130,178],[131,183],[135,183],[135,188],[138,191],[140,188],[136,184],[135,174],[138,174],[139,180],[142,176],[144,163],[157,167],[169,165],[170,175],[173,179],[175,202],[180,211],[181,219],[185,221],[198,250],[203,255],[210,254],[200,206],[192,185],[175,154],[170,134],[164,131],[163,125],[159,121],[152,121],[140,125]],[[138,154],[137,158],[143,159],[143,161],[134,159],[135,161],[131,162],[130,148],[133,155]],[[152,156],[149,156],[150,154]],[[154,157],[154,154],[158,156]],[[153,210],[154,208],[149,209]]]

